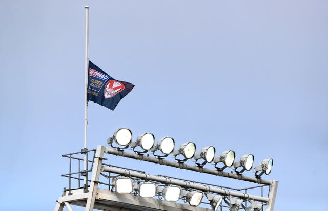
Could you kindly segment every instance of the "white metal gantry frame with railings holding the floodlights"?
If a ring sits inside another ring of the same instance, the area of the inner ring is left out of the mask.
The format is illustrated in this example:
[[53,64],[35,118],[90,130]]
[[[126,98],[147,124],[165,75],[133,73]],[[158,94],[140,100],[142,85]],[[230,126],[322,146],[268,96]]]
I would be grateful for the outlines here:
[[[92,150],[94,151],[94,150]],[[86,153],[86,152],[81,152]],[[76,154],[76,153],[75,153]],[[128,157],[133,158],[137,160],[157,163],[160,165],[166,165],[171,166],[175,168],[185,169],[185,170],[191,170],[196,172],[202,172],[222,177],[228,177],[263,185],[270,186],[268,197],[263,196],[255,196],[250,195],[247,193],[240,193],[237,191],[231,191],[227,189],[220,189],[217,187],[213,187],[210,185],[202,185],[202,184],[194,184],[192,182],[186,182],[186,181],[179,181],[171,178],[166,178],[162,176],[154,176],[146,174],[145,172],[135,172],[129,169],[119,169],[114,168],[113,166],[106,165],[103,163],[103,160],[106,160],[104,157],[105,154],[112,154],[112,155],[118,155],[122,157]],[[72,158],[72,154],[66,155],[65,157]],[[170,183],[174,185],[179,185],[181,187],[188,187],[194,190],[199,190],[202,192],[210,192],[213,194],[220,194],[220,195],[229,195],[232,197],[241,198],[244,200],[252,200],[257,202],[262,202],[266,204],[267,211],[272,211],[274,207],[275,202],[275,196],[277,191],[278,182],[274,180],[264,180],[262,178],[255,178],[255,177],[248,177],[241,174],[233,174],[233,173],[227,173],[223,171],[218,170],[212,170],[208,168],[204,168],[201,166],[192,166],[187,165],[186,163],[182,162],[176,162],[176,161],[170,161],[165,160],[163,158],[155,158],[155,157],[149,157],[144,156],[142,154],[135,154],[135,153],[129,153],[122,150],[116,150],[116,149],[110,149],[105,146],[98,146],[97,150],[95,150],[94,159],[90,161],[92,163],[91,170],[85,171],[78,171],[75,173],[62,175],[65,177],[70,178],[70,187],[69,190],[64,190],[64,194],[62,197],[58,199],[58,203],[56,204],[55,211],[61,211],[63,210],[64,206],[68,208],[69,211],[73,210],[70,204],[79,205],[79,206],[85,206],[86,211],[95,209],[100,210],[195,210],[195,211],[209,211],[212,209],[207,209],[203,207],[193,207],[188,204],[181,204],[181,203],[172,203],[167,202],[164,200],[158,200],[153,198],[142,198],[140,196],[134,196],[132,194],[119,194],[116,192],[112,192],[107,189],[101,189],[98,188],[98,184],[103,184],[99,180],[100,174],[103,174],[102,172],[109,172],[114,173],[122,176],[130,176],[130,177],[136,177],[139,179],[144,180],[151,180],[161,183]],[[79,187],[78,189],[72,189],[71,188],[71,178],[80,180],[79,177],[73,177],[73,174],[87,174],[88,172],[92,171],[91,180],[88,180],[90,182],[90,185]]]

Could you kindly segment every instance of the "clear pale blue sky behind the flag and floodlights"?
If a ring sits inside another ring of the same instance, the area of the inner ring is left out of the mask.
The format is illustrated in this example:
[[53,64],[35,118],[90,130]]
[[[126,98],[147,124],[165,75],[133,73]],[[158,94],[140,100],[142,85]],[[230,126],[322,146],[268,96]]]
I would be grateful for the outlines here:
[[[61,155],[84,147],[85,5],[90,60],[135,84],[114,111],[89,102],[89,149],[126,127],[134,138],[191,140],[197,152],[253,153],[254,166],[274,159],[263,178],[279,181],[275,210],[326,206],[327,1],[2,0],[1,209],[53,210],[68,186]],[[108,163],[252,186],[110,155]]]

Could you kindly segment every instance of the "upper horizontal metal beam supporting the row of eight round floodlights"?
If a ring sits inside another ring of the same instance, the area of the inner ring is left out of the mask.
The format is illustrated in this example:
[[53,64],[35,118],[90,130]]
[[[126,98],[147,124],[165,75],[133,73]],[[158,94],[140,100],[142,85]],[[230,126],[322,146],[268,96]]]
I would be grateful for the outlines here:
[[149,156],[134,154],[134,153],[125,152],[125,151],[121,151],[121,150],[115,150],[115,149],[111,149],[111,148],[107,148],[107,147],[105,148],[105,153],[112,154],[112,155],[118,155],[118,156],[122,156],[122,157],[129,157],[129,158],[133,158],[136,160],[153,162],[153,163],[157,163],[160,165],[171,166],[171,167],[176,167],[176,168],[180,168],[180,169],[186,169],[186,170],[202,172],[202,173],[206,173],[206,174],[217,175],[217,176],[221,176],[221,177],[228,177],[228,178],[232,178],[232,179],[253,182],[253,183],[259,183],[259,184],[265,184],[265,185],[271,185],[271,183],[272,183],[272,180],[264,180],[264,179],[256,178],[256,177],[248,177],[248,176],[233,174],[233,173],[229,173],[229,172],[217,171],[217,170],[213,170],[213,169],[192,166],[192,165],[188,165],[188,164],[181,163],[181,162],[170,161],[170,160],[165,160],[165,159],[160,159],[160,158],[155,158],[155,157],[149,157]]

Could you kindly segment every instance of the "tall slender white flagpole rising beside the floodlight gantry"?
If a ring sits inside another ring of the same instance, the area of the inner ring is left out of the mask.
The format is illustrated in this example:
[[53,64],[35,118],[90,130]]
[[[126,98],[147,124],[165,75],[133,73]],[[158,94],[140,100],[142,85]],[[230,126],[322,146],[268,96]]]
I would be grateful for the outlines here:
[[[84,106],[84,148],[87,149],[87,124],[88,124],[88,99],[87,99],[87,91],[88,91],[88,68],[89,68],[89,6],[84,7],[86,9],[86,61],[85,61],[85,106]],[[88,153],[84,154],[84,170],[88,170]],[[87,173],[87,172],[86,172]],[[84,185],[87,189],[87,176],[84,176]]]

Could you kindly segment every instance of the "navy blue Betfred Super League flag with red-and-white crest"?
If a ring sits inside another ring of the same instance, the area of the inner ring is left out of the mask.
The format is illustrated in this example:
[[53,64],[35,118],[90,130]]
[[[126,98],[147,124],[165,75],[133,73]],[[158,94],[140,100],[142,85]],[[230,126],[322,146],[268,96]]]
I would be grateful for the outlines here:
[[115,80],[89,61],[88,101],[114,110],[118,102],[128,95],[133,87],[132,83]]

